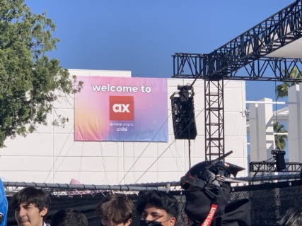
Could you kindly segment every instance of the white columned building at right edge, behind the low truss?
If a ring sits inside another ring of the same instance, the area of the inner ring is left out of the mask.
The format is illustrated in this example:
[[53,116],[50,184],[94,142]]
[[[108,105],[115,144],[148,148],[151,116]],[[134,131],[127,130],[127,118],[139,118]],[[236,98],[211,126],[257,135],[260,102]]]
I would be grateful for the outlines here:
[[275,121],[287,123],[287,143],[289,162],[302,162],[302,92],[301,85],[289,88],[288,107],[273,111],[271,99],[264,98],[258,103],[249,103],[250,160],[263,161],[272,157],[274,146],[273,124]]

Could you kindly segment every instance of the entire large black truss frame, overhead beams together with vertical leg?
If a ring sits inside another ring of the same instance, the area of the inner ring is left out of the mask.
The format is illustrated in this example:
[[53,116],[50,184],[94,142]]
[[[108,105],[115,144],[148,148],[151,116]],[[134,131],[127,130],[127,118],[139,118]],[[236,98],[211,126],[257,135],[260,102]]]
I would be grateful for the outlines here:
[[[296,0],[209,54],[175,53],[173,78],[205,80],[206,158],[223,155],[223,87],[211,99],[209,87],[223,79],[250,81],[302,81],[291,78],[301,72],[301,59],[268,58],[267,55],[302,37],[302,0]],[[241,73],[245,70],[245,73]],[[207,93],[209,92],[209,93]],[[221,97],[222,98],[221,98]],[[220,105],[217,105],[220,104]],[[216,107],[213,107],[216,105]],[[219,109],[219,110],[218,110]],[[211,121],[213,117],[218,120]],[[216,128],[214,128],[214,125]],[[216,150],[214,150],[216,149]]]

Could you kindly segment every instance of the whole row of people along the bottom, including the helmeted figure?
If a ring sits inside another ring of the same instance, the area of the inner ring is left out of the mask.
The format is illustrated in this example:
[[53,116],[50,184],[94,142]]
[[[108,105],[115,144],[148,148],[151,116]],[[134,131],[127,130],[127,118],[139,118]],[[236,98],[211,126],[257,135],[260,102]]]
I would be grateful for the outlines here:
[[[243,198],[231,202],[229,200],[231,184],[224,180],[231,174],[236,176],[241,169],[224,162],[200,162],[194,165],[180,179],[186,198],[185,225],[252,225],[250,200]],[[0,191],[4,194],[3,188]],[[51,199],[45,191],[34,187],[26,187],[11,198],[11,208],[14,210],[18,226],[88,226],[86,215],[71,208],[58,210],[52,215],[50,224],[47,224],[45,220],[50,205]],[[6,213],[6,209],[7,205],[0,208],[0,226],[6,226],[5,214],[1,218],[1,211]],[[138,196],[135,205],[125,194],[108,194],[100,200],[95,210],[101,226],[129,226],[133,223],[135,211],[139,214],[140,226],[174,226],[180,215],[180,207],[175,196],[158,190]],[[289,210],[276,225],[302,225],[302,208]]]

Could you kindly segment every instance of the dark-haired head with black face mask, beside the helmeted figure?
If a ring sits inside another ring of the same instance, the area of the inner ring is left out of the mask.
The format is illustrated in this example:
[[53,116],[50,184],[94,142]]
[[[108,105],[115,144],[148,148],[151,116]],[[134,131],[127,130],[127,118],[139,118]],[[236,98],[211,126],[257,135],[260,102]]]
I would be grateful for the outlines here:
[[173,226],[178,219],[178,201],[164,191],[151,191],[141,196],[137,212],[141,215],[141,225]]

